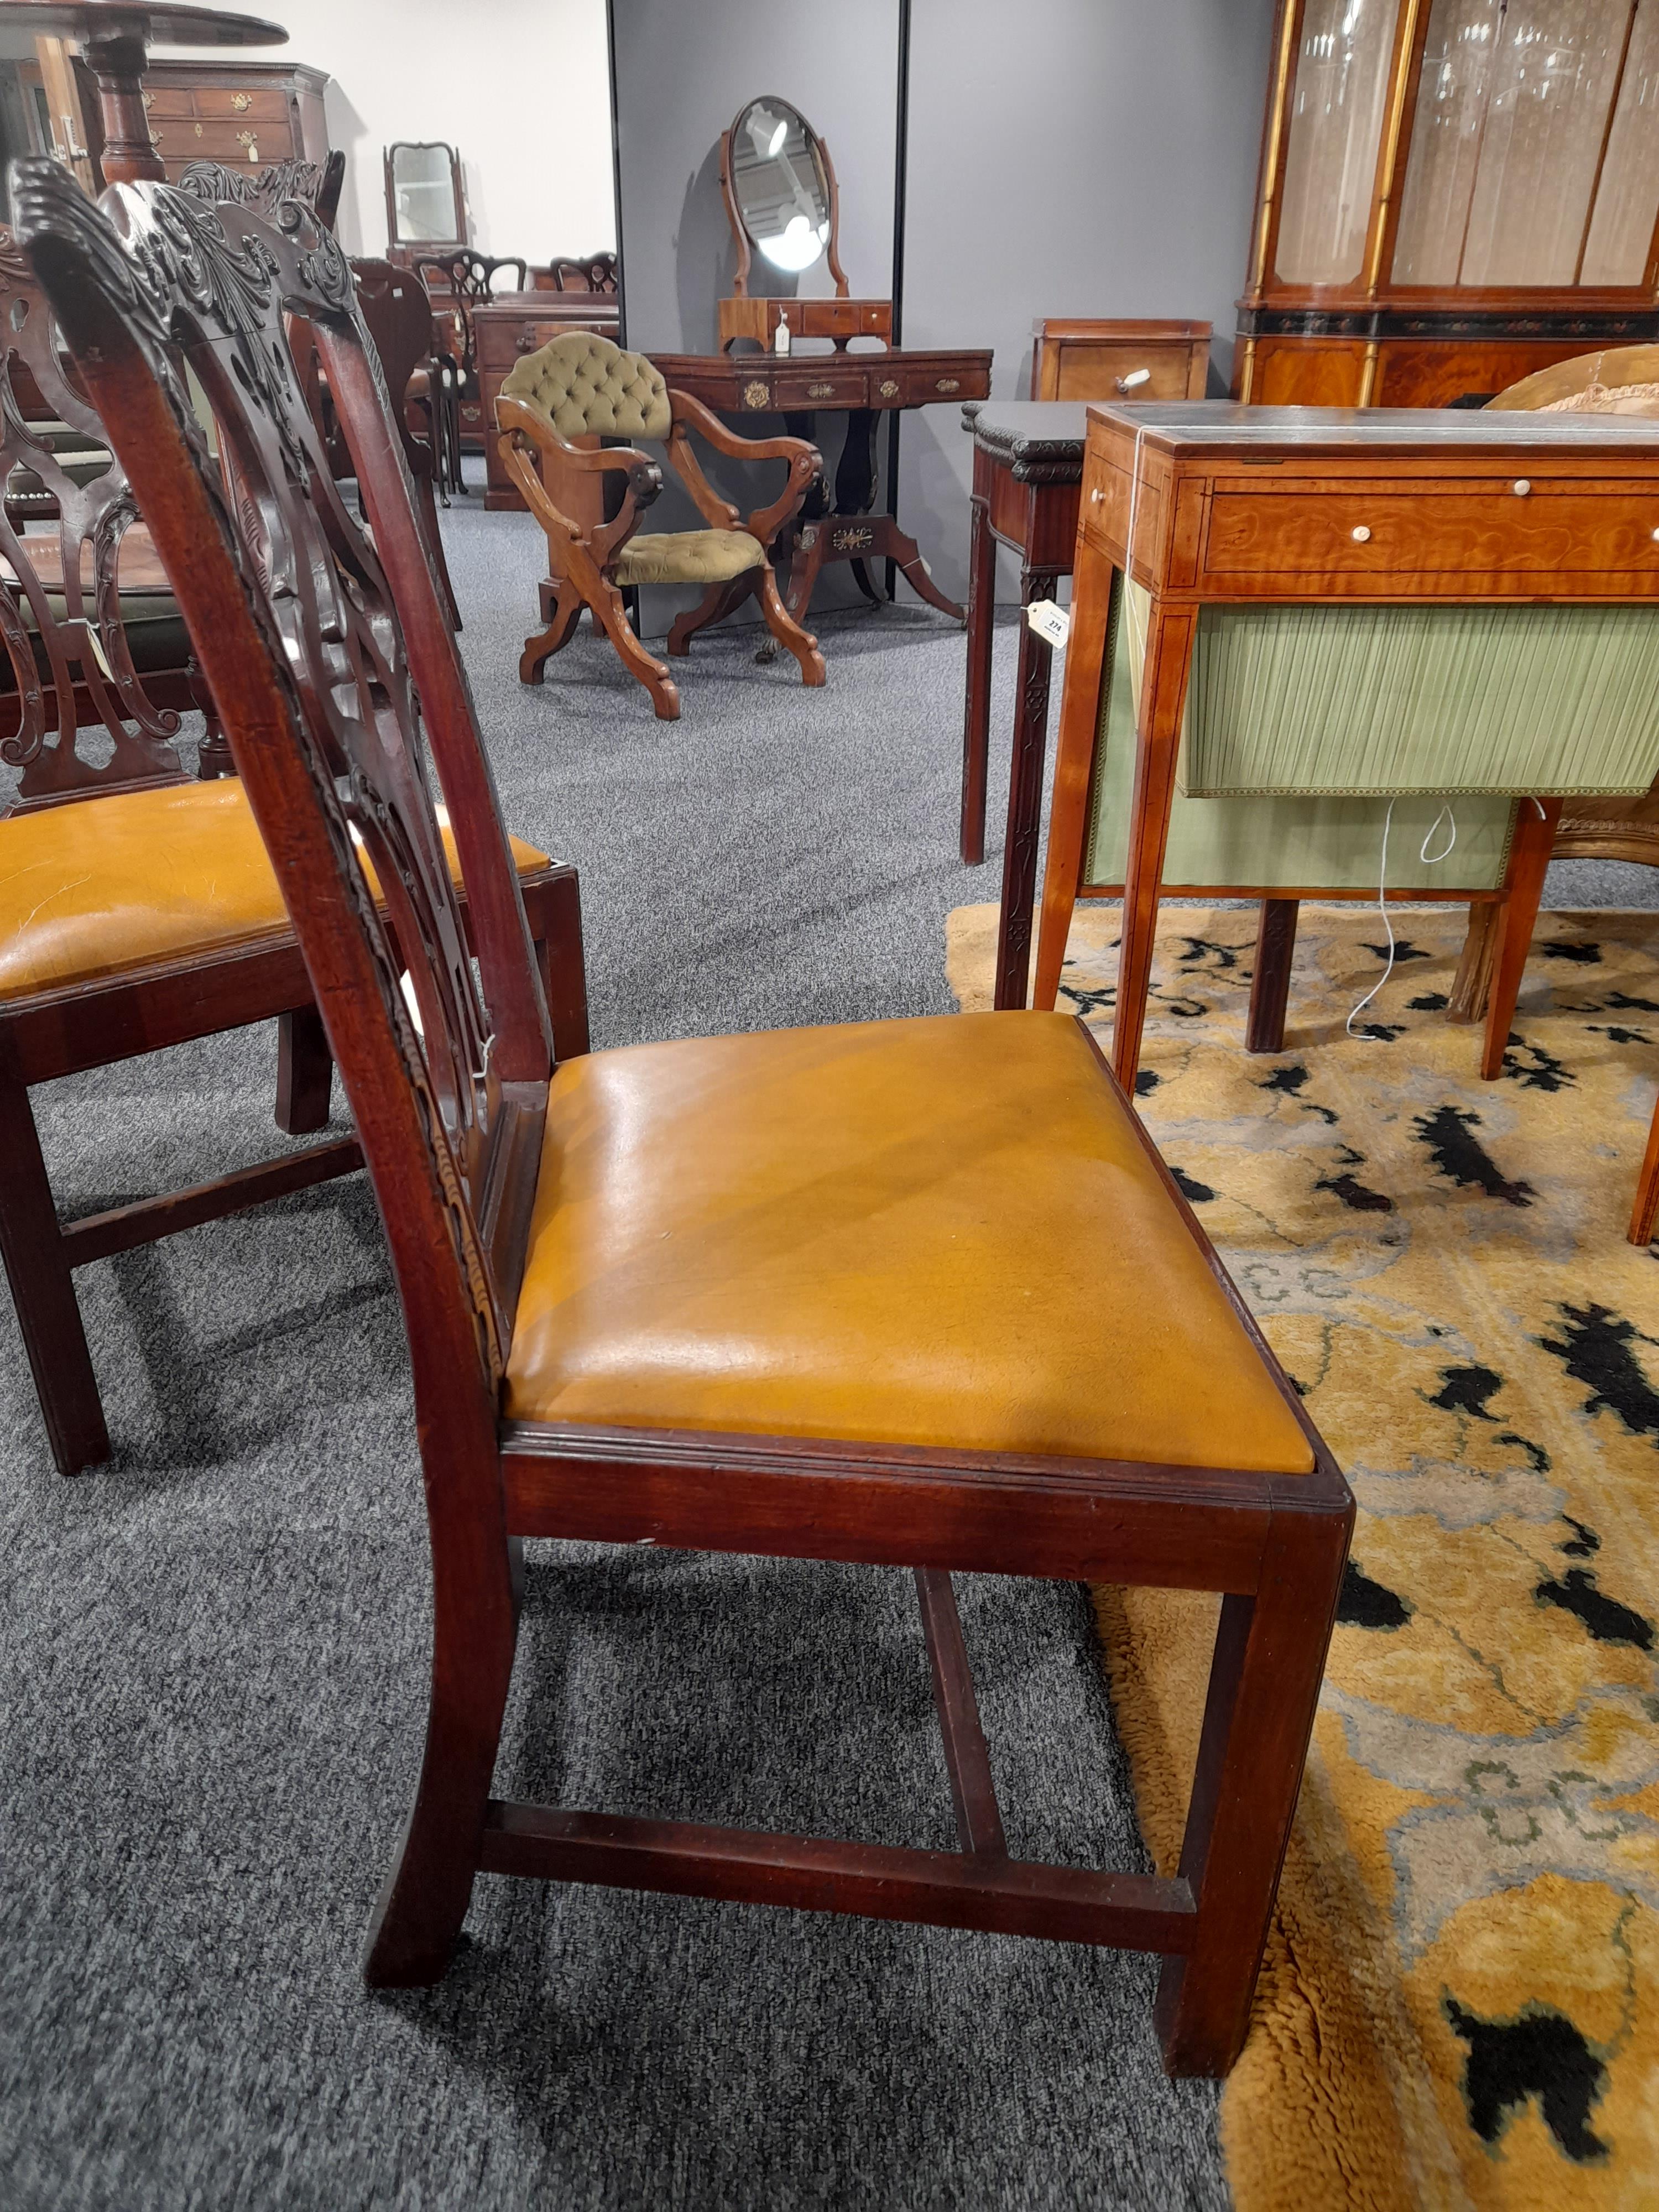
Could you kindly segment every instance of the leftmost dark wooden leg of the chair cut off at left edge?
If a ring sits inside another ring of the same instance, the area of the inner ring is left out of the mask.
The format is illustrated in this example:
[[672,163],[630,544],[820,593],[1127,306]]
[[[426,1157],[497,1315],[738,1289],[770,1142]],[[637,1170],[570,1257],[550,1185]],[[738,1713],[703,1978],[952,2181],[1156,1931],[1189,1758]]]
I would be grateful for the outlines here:
[[77,1475],[111,1455],[108,1429],[29,1086],[9,1066],[0,1066],[0,1256],[11,1303],[58,1473]]

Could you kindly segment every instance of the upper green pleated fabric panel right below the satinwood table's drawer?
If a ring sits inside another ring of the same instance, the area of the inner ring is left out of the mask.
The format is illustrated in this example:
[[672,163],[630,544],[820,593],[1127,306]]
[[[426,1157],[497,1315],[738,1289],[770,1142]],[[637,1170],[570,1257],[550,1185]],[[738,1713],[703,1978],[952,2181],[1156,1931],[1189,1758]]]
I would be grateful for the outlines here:
[[[1139,703],[1148,595],[1124,650]],[[1179,787],[1641,794],[1659,774],[1659,608],[1206,606]]]

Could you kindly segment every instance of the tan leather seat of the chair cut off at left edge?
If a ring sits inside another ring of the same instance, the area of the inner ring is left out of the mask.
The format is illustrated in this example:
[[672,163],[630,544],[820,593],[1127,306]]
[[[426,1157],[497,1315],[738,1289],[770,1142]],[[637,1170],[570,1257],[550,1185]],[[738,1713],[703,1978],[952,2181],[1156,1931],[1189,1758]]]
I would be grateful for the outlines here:
[[[445,830],[449,867],[460,867]],[[520,874],[546,854],[513,838]],[[234,776],[0,821],[0,1000],[285,936],[288,914]]]

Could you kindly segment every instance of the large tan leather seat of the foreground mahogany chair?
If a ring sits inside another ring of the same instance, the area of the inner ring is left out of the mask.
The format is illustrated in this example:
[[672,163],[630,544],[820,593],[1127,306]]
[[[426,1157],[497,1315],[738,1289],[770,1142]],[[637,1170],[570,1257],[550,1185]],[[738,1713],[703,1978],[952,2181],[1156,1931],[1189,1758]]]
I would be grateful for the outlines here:
[[1128,1108],[1057,1013],[566,1062],[504,1411],[1312,1469]]

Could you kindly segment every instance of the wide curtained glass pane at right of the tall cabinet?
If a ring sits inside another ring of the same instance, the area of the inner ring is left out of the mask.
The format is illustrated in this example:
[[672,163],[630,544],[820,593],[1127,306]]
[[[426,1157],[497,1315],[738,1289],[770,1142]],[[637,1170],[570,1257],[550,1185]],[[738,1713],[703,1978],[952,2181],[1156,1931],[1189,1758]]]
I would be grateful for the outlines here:
[[1630,18],[1632,0],[1436,0],[1394,283],[1577,281]]

